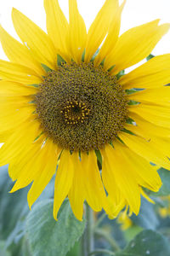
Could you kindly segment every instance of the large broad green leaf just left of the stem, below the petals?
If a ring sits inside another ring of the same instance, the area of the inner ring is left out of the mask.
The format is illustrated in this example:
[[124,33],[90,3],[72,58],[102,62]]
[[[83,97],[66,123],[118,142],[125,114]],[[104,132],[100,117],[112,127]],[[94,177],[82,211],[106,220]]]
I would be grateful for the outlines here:
[[32,255],[65,256],[82,236],[85,220],[74,217],[69,201],[64,201],[58,217],[58,221],[53,218],[53,200],[40,202],[29,213],[26,236]]

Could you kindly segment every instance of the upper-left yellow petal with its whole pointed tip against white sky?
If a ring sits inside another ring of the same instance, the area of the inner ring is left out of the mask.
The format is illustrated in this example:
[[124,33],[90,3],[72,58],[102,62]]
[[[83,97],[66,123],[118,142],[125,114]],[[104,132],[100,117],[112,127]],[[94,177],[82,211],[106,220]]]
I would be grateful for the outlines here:
[[15,31],[23,44],[26,44],[28,49],[30,49],[35,59],[39,63],[55,69],[57,55],[54,44],[48,35],[17,9],[13,9],[12,19]]

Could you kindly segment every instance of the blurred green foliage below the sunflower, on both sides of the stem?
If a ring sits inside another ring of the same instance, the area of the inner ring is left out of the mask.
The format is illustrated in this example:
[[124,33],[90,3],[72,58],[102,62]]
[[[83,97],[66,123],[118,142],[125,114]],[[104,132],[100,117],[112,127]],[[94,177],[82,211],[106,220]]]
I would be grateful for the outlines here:
[[[101,161],[98,151],[96,154],[98,161]],[[79,238],[85,228],[85,221],[79,222],[73,216],[68,201],[64,202],[59,211],[59,221],[54,220],[52,213],[54,178],[30,212],[26,198],[29,187],[9,194],[8,191],[13,183],[8,177],[7,166],[1,168],[0,171],[0,256],[80,256]],[[161,190],[158,193],[148,191],[156,204],[142,199],[139,215],[133,214],[131,217],[132,226],[127,230],[121,230],[121,225],[116,223],[116,219],[108,218],[104,218],[99,224],[102,225],[105,233],[108,232],[110,239],[115,240],[122,248],[118,253],[111,251],[112,255],[170,255],[167,239],[161,235],[166,234],[170,237],[168,228],[170,218],[168,215],[166,218],[161,218],[159,215],[160,207],[168,206],[159,195],[170,194],[170,172],[163,168],[158,172],[163,183]],[[105,237],[96,236],[95,245],[96,248],[105,249],[99,256],[107,255],[104,251],[113,250],[110,241]]]

